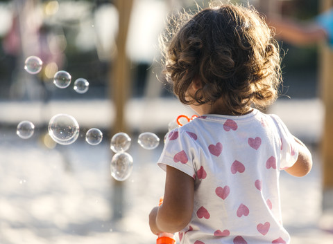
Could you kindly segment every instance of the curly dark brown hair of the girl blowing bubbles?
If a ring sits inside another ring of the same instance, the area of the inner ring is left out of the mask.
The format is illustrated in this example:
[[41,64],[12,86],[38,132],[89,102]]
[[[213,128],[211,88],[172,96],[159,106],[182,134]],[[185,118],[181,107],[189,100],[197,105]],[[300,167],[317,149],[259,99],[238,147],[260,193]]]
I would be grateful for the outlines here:
[[[163,74],[183,104],[223,97],[232,113],[263,109],[278,97],[281,58],[273,32],[253,7],[225,4],[171,18],[161,36]],[[194,79],[202,83],[190,100]]]

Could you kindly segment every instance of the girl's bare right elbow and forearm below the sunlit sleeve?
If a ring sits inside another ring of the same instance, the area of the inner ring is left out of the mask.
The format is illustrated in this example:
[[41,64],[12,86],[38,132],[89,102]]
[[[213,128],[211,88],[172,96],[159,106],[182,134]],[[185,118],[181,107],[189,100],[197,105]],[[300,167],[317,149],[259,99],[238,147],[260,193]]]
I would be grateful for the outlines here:
[[312,158],[309,149],[305,146],[303,142],[301,142],[298,138],[295,138],[296,142],[298,143],[298,158],[295,164],[286,169],[287,173],[291,174],[292,176],[302,177],[306,176],[307,173],[312,168]]

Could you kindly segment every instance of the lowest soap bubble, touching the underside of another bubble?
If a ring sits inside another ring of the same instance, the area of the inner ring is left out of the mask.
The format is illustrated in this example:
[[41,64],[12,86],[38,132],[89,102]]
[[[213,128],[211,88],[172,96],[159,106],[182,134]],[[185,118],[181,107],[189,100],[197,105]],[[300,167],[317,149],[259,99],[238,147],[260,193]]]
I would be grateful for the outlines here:
[[114,154],[111,160],[111,176],[115,180],[126,180],[133,170],[133,158],[126,152]]

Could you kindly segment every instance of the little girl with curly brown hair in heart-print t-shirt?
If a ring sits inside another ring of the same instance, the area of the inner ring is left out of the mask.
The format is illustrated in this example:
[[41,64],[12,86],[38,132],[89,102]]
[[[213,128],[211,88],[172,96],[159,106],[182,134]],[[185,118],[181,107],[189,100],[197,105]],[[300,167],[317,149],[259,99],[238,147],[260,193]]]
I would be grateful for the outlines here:
[[279,174],[305,176],[311,153],[277,115],[253,108],[278,96],[278,44],[250,7],[184,17],[164,38],[164,74],[199,117],[167,136],[164,202],[149,215],[151,231],[179,232],[187,244],[289,243]]

